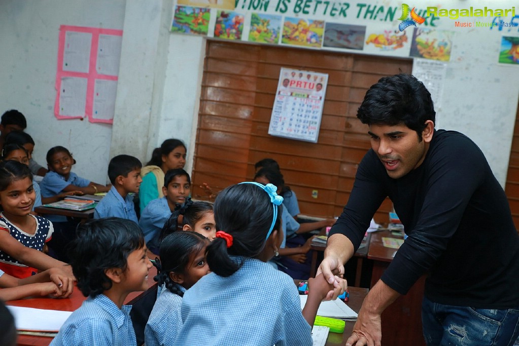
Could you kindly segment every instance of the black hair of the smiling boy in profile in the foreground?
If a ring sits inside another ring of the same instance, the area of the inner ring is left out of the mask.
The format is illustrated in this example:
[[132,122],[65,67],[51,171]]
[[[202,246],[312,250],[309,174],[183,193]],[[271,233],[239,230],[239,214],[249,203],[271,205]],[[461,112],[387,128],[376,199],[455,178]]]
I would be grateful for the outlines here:
[[139,225],[128,219],[87,221],[77,229],[69,250],[77,287],[85,297],[95,297],[112,288],[106,269],[126,270],[130,253],[144,247]]

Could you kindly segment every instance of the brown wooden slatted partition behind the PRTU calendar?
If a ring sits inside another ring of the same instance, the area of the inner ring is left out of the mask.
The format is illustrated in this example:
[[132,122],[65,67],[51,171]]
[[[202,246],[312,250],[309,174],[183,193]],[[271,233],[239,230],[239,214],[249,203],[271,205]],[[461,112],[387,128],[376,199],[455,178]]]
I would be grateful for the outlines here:
[[[329,75],[318,143],[267,134],[281,67]],[[364,94],[379,78],[411,69],[410,59],[208,40],[193,196],[208,199],[202,183],[217,192],[252,180],[254,163],[271,157],[296,192],[302,214],[338,216],[371,148],[367,126],[356,117]],[[390,209],[387,199],[375,220],[387,222]]]

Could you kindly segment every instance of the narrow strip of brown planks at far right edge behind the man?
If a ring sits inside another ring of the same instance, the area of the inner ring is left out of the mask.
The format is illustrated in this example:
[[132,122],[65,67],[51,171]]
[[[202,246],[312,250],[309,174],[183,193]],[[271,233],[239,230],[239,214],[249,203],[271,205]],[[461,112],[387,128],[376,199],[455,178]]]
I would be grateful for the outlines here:
[[519,232],[519,105],[515,116],[514,135],[512,138],[512,148],[510,149],[510,161],[508,162],[507,182],[504,185],[504,192],[507,194],[512,218],[515,228]]

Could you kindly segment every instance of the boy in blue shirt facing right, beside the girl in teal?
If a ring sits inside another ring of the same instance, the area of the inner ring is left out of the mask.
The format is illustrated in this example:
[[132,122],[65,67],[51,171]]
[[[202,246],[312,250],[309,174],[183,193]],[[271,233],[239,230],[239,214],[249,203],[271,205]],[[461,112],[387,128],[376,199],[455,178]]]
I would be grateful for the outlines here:
[[117,155],[110,160],[108,178],[112,188],[95,207],[94,219],[117,217],[139,222],[130,193],[139,193],[141,168],[139,159],[130,155]]

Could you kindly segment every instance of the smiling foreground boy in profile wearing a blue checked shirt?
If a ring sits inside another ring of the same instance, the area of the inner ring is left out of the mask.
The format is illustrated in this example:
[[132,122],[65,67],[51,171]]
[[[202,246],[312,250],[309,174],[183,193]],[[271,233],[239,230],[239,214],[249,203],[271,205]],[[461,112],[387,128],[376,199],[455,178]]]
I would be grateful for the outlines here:
[[131,307],[122,304],[129,293],[148,288],[152,263],[139,226],[120,218],[88,221],[79,226],[70,257],[77,287],[88,298],[51,345],[136,345]]

